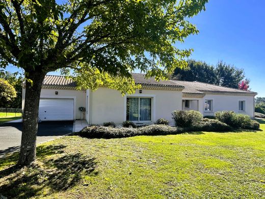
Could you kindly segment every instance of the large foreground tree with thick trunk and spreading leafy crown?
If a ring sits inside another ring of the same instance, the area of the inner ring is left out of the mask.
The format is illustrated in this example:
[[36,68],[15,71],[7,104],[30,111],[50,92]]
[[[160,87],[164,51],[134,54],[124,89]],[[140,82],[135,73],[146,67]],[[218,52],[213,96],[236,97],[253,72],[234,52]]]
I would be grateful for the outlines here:
[[19,165],[36,158],[42,81],[49,71],[73,71],[77,88],[104,84],[122,94],[135,85],[130,71],[165,79],[186,67],[192,49],[178,49],[196,27],[188,19],[208,0],[6,0],[0,4],[0,64],[24,70],[25,105]]

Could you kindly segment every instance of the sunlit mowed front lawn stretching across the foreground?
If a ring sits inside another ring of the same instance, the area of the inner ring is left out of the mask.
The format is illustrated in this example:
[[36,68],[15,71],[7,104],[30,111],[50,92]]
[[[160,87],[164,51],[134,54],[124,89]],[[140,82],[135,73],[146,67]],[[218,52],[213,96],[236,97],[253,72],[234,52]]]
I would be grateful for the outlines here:
[[264,198],[262,131],[87,139],[37,148],[37,166],[0,160],[0,193],[13,198]]

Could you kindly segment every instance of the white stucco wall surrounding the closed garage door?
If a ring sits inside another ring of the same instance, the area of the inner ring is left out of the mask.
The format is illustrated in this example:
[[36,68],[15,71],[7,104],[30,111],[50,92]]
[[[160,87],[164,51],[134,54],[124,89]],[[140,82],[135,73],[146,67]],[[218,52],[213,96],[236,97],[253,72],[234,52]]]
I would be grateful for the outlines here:
[[[58,94],[55,94],[58,91]],[[24,107],[24,93],[22,90],[22,109]],[[81,113],[78,108],[86,107],[86,91],[80,90],[63,90],[63,89],[41,89],[41,98],[73,98],[74,99],[74,119],[85,119],[84,114]],[[80,114],[81,113],[81,114]]]

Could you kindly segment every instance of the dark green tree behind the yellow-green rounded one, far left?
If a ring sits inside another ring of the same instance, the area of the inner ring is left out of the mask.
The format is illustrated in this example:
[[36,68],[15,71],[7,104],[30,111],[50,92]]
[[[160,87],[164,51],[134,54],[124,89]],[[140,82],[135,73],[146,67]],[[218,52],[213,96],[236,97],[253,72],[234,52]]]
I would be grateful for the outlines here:
[[11,84],[16,90],[16,97],[8,103],[7,108],[17,108],[21,109],[22,105],[22,77],[16,77],[16,73],[11,73],[9,71],[0,71],[0,78],[5,79]]

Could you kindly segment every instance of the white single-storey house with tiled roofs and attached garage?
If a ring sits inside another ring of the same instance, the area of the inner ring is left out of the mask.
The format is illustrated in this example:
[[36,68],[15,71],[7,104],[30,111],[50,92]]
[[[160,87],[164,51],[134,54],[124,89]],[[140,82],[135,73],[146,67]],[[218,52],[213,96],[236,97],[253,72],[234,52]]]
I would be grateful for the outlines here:
[[[201,82],[160,81],[132,73],[142,88],[122,96],[119,91],[100,87],[96,91],[76,90],[75,83],[62,76],[47,75],[42,84],[39,105],[41,120],[86,119],[89,124],[125,120],[151,123],[158,118],[172,122],[174,110],[196,110],[204,116],[217,111],[234,111],[254,117],[252,91]],[[22,91],[22,109],[25,89]]]

